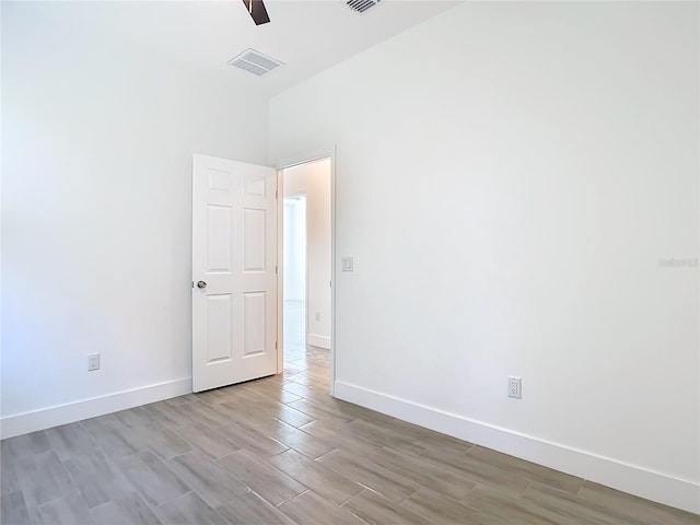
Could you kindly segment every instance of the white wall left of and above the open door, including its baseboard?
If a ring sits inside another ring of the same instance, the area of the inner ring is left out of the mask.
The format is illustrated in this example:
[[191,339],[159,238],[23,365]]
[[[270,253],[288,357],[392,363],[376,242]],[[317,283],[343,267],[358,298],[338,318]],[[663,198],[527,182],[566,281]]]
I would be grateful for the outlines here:
[[191,154],[267,160],[266,100],[92,9],[2,5],[5,436],[190,392]]

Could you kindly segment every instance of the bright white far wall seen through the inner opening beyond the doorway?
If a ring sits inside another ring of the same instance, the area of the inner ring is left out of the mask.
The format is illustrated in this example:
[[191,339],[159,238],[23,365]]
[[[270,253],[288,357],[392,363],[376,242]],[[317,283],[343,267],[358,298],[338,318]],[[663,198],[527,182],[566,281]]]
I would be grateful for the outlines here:
[[[284,199],[284,301],[306,301],[306,196]],[[330,261],[328,262],[330,264]]]

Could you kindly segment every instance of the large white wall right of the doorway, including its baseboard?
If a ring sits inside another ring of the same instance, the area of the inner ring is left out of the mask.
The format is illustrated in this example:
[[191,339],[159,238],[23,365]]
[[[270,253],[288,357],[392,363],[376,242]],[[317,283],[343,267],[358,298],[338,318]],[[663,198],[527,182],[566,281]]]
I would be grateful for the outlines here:
[[469,2],[272,98],[337,144],[338,396],[700,512],[698,34]]

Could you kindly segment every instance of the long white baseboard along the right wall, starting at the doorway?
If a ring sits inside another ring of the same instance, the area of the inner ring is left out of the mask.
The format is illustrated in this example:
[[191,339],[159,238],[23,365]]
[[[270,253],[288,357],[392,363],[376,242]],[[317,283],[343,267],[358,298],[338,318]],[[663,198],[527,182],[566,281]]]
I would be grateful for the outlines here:
[[700,483],[336,381],[335,396],[556,470],[700,514]]

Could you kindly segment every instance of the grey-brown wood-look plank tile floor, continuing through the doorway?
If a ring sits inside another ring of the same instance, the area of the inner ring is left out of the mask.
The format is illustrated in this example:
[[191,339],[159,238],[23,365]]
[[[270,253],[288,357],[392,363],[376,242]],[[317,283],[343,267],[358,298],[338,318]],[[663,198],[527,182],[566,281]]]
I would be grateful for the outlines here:
[[284,373],[2,442],[2,524],[695,524],[700,516],[328,395]]

